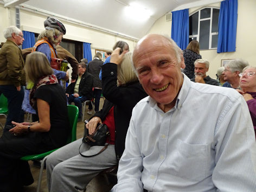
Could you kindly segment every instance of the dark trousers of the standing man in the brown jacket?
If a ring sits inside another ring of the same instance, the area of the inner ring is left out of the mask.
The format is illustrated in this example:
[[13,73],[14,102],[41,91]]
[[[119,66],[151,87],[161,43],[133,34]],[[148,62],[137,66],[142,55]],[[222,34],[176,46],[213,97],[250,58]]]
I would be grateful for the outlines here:
[[8,116],[4,128],[11,125],[11,121],[22,123],[24,121],[24,113],[21,109],[22,101],[24,98],[24,89],[17,91],[14,85],[0,85],[0,94],[8,100]]

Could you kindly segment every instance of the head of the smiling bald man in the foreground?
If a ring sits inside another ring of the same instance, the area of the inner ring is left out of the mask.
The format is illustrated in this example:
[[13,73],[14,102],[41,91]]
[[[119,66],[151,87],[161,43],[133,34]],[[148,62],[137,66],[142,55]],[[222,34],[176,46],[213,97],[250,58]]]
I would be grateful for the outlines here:
[[181,67],[185,68],[185,64],[184,60],[177,63],[170,42],[160,35],[145,37],[137,44],[133,63],[140,84],[159,108],[173,107],[183,82]]

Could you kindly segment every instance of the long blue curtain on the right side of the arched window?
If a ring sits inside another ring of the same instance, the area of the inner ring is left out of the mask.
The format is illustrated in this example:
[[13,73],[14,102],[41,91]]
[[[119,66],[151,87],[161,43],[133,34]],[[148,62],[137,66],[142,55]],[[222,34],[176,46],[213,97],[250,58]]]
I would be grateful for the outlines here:
[[219,14],[217,53],[235,52],[238,0],[222,1]]

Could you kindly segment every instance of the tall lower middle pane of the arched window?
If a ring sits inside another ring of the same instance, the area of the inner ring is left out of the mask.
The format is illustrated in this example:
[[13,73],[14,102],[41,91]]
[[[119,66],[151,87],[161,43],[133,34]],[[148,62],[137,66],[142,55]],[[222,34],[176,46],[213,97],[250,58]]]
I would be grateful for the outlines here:
[[209,49],[210,20],[200,22],[200,49]]

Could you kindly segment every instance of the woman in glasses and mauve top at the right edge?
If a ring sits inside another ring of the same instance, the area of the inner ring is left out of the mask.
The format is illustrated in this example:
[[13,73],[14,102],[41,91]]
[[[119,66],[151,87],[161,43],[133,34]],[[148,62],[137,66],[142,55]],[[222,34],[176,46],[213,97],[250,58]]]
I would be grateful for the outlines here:
[[241,93],[248,105],[249,112],[251,113],[252,123],[256,136],[256,67],[247,66],[243,69],[240,76],[240,89],[236,89]]

